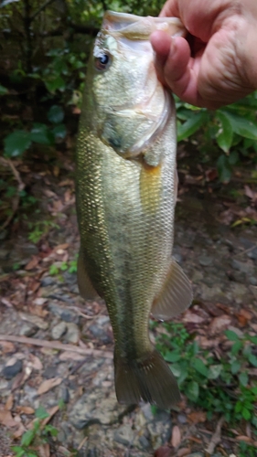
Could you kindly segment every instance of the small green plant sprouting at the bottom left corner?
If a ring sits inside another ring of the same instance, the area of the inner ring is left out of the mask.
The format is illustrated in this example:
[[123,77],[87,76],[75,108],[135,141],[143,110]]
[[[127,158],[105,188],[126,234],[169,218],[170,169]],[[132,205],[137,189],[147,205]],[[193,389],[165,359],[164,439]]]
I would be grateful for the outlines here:
[[44,423],[49,417],[46,409],[40,406],[36,409],[35,416],[37,419],[33,428],[22,435],[20,446],[12,447],[16,457],[37,457],[37,446],[47,443],[49,436],[55,437],[58,434],[55,427]]

